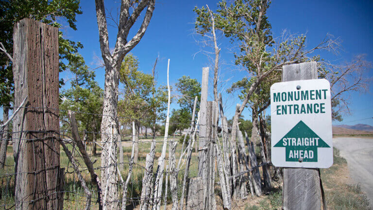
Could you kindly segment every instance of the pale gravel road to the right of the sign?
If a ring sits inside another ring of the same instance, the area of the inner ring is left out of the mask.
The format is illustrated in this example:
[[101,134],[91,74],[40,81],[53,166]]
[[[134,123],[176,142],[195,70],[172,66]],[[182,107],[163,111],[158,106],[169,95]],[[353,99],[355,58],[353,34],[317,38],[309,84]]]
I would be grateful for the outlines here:
[[351,178],[367,192],[373,208],[373,139],[334,138],[333,146],[346,158]]

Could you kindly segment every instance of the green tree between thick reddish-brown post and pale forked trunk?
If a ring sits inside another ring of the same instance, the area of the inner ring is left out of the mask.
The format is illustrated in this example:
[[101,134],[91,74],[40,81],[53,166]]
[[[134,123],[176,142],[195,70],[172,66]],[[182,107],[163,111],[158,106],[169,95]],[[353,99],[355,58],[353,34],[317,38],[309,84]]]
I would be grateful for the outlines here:
[[[99,137],[102,113],[103,90],[95,79],[95,72],[89,70],[85,65],[83,57],[76,55],[77,60],[70,62],[68,69],[73,73],[69,89],[61,92],[61,105],[63,110],[78,111],[76,120],[80,130],[88,130],[91,133],[92,141]],[[84,113],[79,113],[84,112]],[[91,114],[86,114],[91,113]],[[61,112],[63,127],[68,127],[68,113]],[[93,144],[93,154],[96,155],[96,144]]]

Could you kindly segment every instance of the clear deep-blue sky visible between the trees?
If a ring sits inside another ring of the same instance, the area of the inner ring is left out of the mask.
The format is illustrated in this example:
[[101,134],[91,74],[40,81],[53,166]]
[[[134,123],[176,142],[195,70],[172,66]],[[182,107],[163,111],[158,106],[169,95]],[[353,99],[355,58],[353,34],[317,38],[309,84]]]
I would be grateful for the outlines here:
[[[119,0],[106,0],[105,6],[108,12],[116,17],[119,8]],[[201,46],[196,43],[198,35],[194,35],[193,8],[208,4],[212,10],[217,8],[218,1],[212,0],[160,0],[156,1],[153,18],[146,34],[131,52],[136,55],[140,62],[140,70],[151,73],[153,63],[159,54],[160,62],[156,67],[159,84],[166,84],[167,59],[170,59],[170,83],[175,84],[177,79],[183,75],[189,75],[201,81],[202,68],[210,65],[210,61],[203,53],[199,53]],[[81,41],[84,49],[80,50],[88,66],[96,68],[101,60],[99,44],[99,33],[95,13],[94,0],[82,0],[81,7],[83,15],[77,17],[77,31],[63,29],[67,38]],[[323,58],[331,60],[335,64],[350,61],[358,54],[366,54],[366,60],[373,61],[373,1],[353,0],[316,0],[316,1],[293,1],[274,0],[268,11],[268,17],[272,25],[274,36],[281,35],[283,30],[291,33],[306,34],[307,45],[315,46],[328,33],[340,37],[343,50],[338,54],[319,52]],[[142,17],[138,22],[142,21]],[[139,23],[135,24],[129,39],[137,31]],[[109,26],[109,44],[113,47],[118,29]],[[225,89],[232,82],[240,80],[245,72],[239,71],[238,67],[232,65],[232,45],[222,38],[221,43],[221,69],[224,79],[229,79]],[[210,72],[210,76],[212,73]],[[69,73],[60,75],[69,78]],[[372,78],[373,70],[369,70],[368,77]],[[96,80],[103,88],[104,69],[96,70]],[[211,81],[210,81],[211,87]],[[369,90],[373,88],[372,82]],[[223,88],[224,89],[224,88]],[[335,124],[365,123],[373,125],[373,119],[362,120],[373,117],[373,94],[370,91],[351,96],[352,115],[344,115],[343,122]],[[226,115],[231,118],[234,114],[234,106],[237,103],[236,95],[222,92],[223,101],[226,103]],[[209,90],[212,99],[212,90]],[[171,108],[177,108],[175,103]],[[243,116],[251,119],[250,111],[245,109]]]

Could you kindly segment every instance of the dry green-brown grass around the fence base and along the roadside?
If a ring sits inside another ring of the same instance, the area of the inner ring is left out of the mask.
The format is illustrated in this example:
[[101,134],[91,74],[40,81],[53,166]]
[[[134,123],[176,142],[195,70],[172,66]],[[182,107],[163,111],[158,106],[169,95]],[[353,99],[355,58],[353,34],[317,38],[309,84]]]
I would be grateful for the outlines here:
[[[163,140],[159,138],[157,140]],[[140,196],[141,189],[142,189],[142,176],[144,174],[145,165],[145,157],[149,153],[150,150],[150,142],[141,142],[139,145],[139,162],[133,169],[133,176],[131,178],[130,185],[128,187],[128,197],[134,198],[130,202],[128,202],[129,206],[127,209],[138,209],[139,206],[137,205],[139,202],[138,197]],[[68,146],[71,150],[71,145]],[[154,172],[156,170],[156,166],[158,164],[157,158],[161,155],[161,147],[162,142],[158,142],[156,145],[156,153],[155,153],[155,162],[154,162]],[[131,146],[125,145],[123,147],[124,153],[124,161],[128,162],[129,157],[131,156]],[[101,152],[101,149],[98,148],[98,153]],[[181,144],[178,145],[176,151],[176,157],[180,156],[181,152]],[[168,154],[166,155],[168,157]],[[85,164],[81,157],[79,157],[78,153],[75,153],[75,158],[79,161],[82,169],[85,168]],[[97,159],[94,163],[95,168],[99,168],[101,166],[100,155],[92,156],[92,160]],[[13,160],[13,150],[12,146],[8,147],[7,151],[7,160],[6,164],[8,165],[5,167],[4,170],[0,170],[0,209],[6,207],[9,209],[14,204],[14,175],[10,175],[14,173],[14,160]],[[60,156],[60,164],[61,167],[67,168],[70,167],[68,164],[68,157],[66,157],[65,153],[61,148],[61,156]],[[196,153],[192,154],[191,166],[189,171],[189,176],[193,177],[197,175],[197,168],[198,168],[198,158]],[[182,171],[178,175],[178,184],[179,189],[181,189],[181,183],[184,175],[184,168],[181,169]],[[344,158],[339,156],[339,151],[334,150],[334,164],[329,169],[322,169],[322,182],[325,188],[326,199],[328,203],[328,209],[331,210],[368,210],[369,209],[369,202],[366,195],[361,191],[358,185],[351,185],[350,184],[350,177],[348,175],[348,168],[347,162]],[[97,169],[96,173],[101,175],[101,170]],[[83,176],[88,184],[88,187],[96,191],[95,187],[92,186],[90,182],[90,176],[87,171],[83,171]],[[124,171],[121,173],[123,178],[125,179],[128,174],[128,164],[124,164]],[[217,180],[216,183],[219,182],[219,176],[216,176]],[[273,188],[270,191],[265,192],[265,195],[261,197],[251,197],[250,195],[247,199],[244,200],[233,200],[232,201],[232,209],[234,210],[280,210],[282,206],[282,190],[281,185],[282,183],[273,182]],[[85,193],[84,190],[81,188],[81,185],[73,172],[72,168],[68,168],[67,173],[65,175],[65,195],[64,195],[64,209],[66,210],[80,210],[84,209],[85,205]],[[121,189],[120,189],[121,191]],[[222,200],[220,195],[220,188],[219,185],[216,185],[216,202],[218,210],[222,210]],[[121,194],[121,192],[119,193]],[[170,199],[170,192],[168,193],[168,205],[167,209],[171,209],[171,199]],[[181,196],[181,192],[179,192],[179,197]],[[163,200],[163,199],[162,199]],[[92,210],[97,210],[98,205],[95,202],[96,199],[92,198]],[[163,204],[163,201],[162,201]],[[162,206],[163,208],[163,206]],[[14,208],[11,208],[14,209]]]

